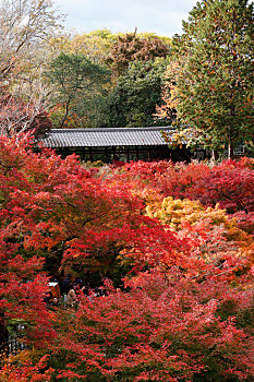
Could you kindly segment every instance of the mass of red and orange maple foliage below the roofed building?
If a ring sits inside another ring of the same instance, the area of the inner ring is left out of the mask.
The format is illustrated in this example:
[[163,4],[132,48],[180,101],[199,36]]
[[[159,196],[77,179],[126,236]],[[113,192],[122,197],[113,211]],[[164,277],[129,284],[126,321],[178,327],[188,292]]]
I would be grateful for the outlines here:
[[[0,139],[0,380],[252,381],[253,160],[86,168]],[[72,309],[48,278],[81,276]]]

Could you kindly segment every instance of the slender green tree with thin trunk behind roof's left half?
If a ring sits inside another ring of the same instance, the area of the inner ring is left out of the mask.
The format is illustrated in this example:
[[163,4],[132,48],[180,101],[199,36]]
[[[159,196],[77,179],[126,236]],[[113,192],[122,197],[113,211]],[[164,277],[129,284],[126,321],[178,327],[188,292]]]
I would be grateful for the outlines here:
[[60,128],[63,128],[70,112],[76,114],[80,104],[84,108],[90,98],[102,92],[102,86],[110,80],[108,69],[93,63],[81,53],[62,52],[52,60],[46,74],[56,86],[56,99],[63,106]]

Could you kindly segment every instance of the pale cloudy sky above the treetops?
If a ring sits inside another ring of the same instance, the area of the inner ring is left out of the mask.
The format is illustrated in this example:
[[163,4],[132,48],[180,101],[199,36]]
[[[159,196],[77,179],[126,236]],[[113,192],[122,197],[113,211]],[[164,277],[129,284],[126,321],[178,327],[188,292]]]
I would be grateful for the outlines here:
[[112,32],[155,32],[172,37],[182,33],[182,20],[196,0],[55,0],[66,14],[65,26],[78,33],[108,28]]

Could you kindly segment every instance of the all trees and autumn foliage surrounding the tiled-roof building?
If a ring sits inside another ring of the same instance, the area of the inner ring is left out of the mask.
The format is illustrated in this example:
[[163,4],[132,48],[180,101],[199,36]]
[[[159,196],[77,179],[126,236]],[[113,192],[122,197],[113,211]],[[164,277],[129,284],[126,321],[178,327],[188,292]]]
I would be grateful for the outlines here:
[[[254,380],[254,159],[233,159],[253,145],[253,20],[204,0],[173,38],[81,35],[48,0],[0,1],[1,382]],[[213,160],[36,144],[166,124]]]

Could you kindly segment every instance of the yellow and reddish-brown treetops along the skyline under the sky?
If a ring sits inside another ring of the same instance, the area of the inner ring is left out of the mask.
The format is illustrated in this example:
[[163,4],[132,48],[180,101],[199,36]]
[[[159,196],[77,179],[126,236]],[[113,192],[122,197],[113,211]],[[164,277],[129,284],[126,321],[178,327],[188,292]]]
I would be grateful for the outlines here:
[[128,69],[130,61],[147,61],[165,57],[170,50],[171,38],[157,36],[152,32],[113,34],[105,28],[74,35],[63,33],[52,38],[50,46],[55,51],[82,53],[93,62],[101,64],[107,62],[116,70],[122,65],[122,60],[124,69]]

